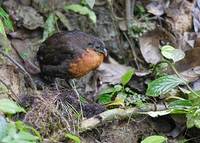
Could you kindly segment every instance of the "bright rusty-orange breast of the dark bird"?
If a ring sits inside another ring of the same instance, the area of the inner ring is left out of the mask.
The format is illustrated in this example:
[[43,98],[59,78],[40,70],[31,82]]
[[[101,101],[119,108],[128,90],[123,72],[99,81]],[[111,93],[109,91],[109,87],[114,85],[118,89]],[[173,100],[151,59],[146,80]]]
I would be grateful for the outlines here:
[[86,75],[96,69],[104,59],[104,55],[87,49],[84,54],[69,65],[69,72],[74,78]]

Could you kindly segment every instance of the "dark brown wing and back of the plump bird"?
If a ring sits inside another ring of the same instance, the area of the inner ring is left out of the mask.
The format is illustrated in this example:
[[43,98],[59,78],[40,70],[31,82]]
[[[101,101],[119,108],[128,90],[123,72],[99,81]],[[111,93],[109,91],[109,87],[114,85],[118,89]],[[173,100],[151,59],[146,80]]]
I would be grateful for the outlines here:
[[71,60],[83,52],[81,47],[86,45],[80,43],[80,35],[76,36],[70,32],[54,34],[40,47],[38,60],[42,64],[59,65],[61,62]]

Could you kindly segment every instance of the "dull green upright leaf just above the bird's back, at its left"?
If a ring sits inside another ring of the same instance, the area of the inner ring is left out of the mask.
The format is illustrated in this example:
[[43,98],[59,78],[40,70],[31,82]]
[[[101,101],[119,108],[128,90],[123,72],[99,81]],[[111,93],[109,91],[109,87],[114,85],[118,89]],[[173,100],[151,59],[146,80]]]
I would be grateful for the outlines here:
[[45,24],[44,24],[44,32],[43,32],[43,39],[42,41],[45,41],[48,37],[53,35],[56,32],[56,22],[57,17],[55,16],[55,13],[52,12],[49,14]]

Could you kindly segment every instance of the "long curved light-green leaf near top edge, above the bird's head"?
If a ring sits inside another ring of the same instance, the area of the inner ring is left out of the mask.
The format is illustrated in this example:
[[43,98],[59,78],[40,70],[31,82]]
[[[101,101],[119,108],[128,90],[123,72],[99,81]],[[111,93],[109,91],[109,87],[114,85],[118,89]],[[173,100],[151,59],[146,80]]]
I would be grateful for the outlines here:
[[64,10],[65,11],[70,10],[70,11],[79,13],[81,15],[87,15],[94,24],[96,23],[96,20],[97,20],[96,15],[88,7],[85,7],[79,4],[72,4],[72,5],[65,6]]

